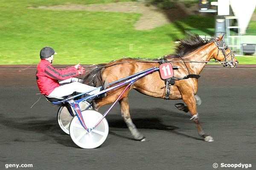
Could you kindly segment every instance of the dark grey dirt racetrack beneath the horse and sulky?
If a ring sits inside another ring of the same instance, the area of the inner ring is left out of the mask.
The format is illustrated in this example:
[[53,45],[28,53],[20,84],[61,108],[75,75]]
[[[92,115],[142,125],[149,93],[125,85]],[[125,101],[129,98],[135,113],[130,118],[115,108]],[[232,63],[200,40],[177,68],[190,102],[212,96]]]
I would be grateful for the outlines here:
[[[251,164],[256,169],[255,66],[228,69],[207,66],[199,79],[198,113],[215,142],[198,137],[179,101],[156,99],[131,91],[134,124],[147,142],[132,139],[117,104],[107,116],[110,133],[101,147],[85,150],[58,127],[58,107],[40,95],[35,68],[0,67],[0,169],[32,164],[26,170],[218,170],[224,164]],[[105,111],[108,106],[101,108]],[[16,169],[16,168],[9,168]],[[236,170],[242,169],[237,167]]]

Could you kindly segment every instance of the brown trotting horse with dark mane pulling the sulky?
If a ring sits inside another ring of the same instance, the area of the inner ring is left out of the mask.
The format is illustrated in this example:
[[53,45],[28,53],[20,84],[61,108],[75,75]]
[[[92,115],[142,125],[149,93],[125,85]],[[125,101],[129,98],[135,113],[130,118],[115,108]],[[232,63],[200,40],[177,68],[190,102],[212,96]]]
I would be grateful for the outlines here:
[[[169,86],[170,93],[168,99],[183,99],[191,113],[191,119],[196,124],[199,135],[207,142],[212,142],[213,138],[212,136],[206,135],[201,127],[195,97],[198,91],[199,74],[210,59],[218,60],[225,67],[229,68],[234,68],[238,64],[233,52],[221,41],[222,38],[223,36],[216,37],[210,41],[204,41],[195,34],[188,39],[180,41],[180,44],[175,48],[176,54],[170,54],[164,57],[166,62],[171,62],[172,65],[179,67],[177,70],[174,70],[175,84],[167,85]],[[85,83],[90,81],[93,79],[92,76],[95,79],[95,75],[97,75],[96,77],[101,77],[102,81],[107,80],[108,82],[113,82],[151,67],[159,67],[159,65],[159,61],[155,60],[118,59],[94,69],[85,77],[84,81]],[[96,84],[97,82],[94,82],[92,85]],[[161,79],[159,71],[156,71],[134,82],[119,99],[122,117],[134,139],[144,141],[145,137],[137,130],[137,127],[132,122],[128,104],[129,90],[134,88],[142,94],[164,99],[166,98],[167,86],[165,80]],[[103,98],[94,99],[93,108],[98,110],[103,105],[113,103],[124,88],[122,86],[115,89],[115,91],[108,92],[107,96]]]

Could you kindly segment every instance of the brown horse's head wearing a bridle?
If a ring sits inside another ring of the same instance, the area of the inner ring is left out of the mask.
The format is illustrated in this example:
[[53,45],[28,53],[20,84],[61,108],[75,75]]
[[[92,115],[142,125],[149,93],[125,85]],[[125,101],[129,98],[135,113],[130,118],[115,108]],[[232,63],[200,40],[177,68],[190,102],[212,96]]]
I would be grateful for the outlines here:
[[224,62],[224,67],[235,68],[236,65],[238,65],[238,61],[231,49],[225,44],[224,41],[222,41],[223,37],[224,35],[222,37],[216,37],[214,40],[218,51],[216,51],[213,58],[218,61]]

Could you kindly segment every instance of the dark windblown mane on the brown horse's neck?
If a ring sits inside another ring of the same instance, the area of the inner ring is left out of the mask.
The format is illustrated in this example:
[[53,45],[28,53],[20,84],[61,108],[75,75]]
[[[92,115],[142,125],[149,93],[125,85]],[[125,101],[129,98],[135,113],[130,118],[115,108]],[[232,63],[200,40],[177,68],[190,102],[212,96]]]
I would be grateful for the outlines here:
[[208,40],[203,40],[198,34],[192,34],[188,38],[180,40],[179,45],[175,47],[175,54],[169,54],[166,58],[183,57],[209,42]]

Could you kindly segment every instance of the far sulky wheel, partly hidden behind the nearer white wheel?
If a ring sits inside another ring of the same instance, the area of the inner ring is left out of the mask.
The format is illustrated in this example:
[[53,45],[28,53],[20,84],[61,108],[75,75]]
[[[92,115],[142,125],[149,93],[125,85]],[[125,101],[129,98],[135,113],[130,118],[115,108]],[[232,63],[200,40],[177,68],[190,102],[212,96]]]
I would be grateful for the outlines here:
[[[79,107],[81,109],[81,111],[84,111],[85,109],[88,108],[88,106],[90,105],[89,102],[87,101],[83,101],[79,103]],[[88,108],[88,109],[92,109],[92,107]],[[72,108],[73,111],[73,108]],[[76,114],[73,111],[74,114]],[[60,125],[61,129],[69,134],[69,126],[70,126],[70,121],[73,119],[73,116],[70,115],[69,111],[67,110],[67,108],[65,106],[61,106],[58,110],[58,114],[57,114],[57,119],[58,119],[58,124]]]

